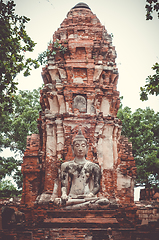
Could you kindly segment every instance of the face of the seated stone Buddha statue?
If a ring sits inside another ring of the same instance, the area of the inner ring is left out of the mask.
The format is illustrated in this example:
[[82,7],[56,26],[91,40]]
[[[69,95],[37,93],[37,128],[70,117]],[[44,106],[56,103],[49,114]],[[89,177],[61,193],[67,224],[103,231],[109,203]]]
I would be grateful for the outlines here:
[[74,155],[77,158],[83,158],[87,154],[87,143],[85,140],[76,140],[73,143]]

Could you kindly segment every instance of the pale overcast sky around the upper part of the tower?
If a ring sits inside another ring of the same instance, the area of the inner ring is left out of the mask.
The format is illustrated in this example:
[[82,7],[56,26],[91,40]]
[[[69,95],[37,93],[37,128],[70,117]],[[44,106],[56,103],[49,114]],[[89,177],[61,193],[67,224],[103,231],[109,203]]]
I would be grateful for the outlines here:
[[[29,57],[36,58],[47,48],[53,33],[67,13],[79,1],[76,0],[15,0],[16,13],[31,20],[27,32],[37,45]],[[118,90],[123,96],[124,106],[132,111],[150,106],[159,111],[159,97],[150,96],[148,101],[140,100],[140,87],[152,75],[151,67],[159,62],[159,20],[145,18],[145,0],[87,0],[92,12],[96,14],[108,33],[113,34],[113,45],[117,52],[119,70]],[[42,84],[42,67],[33,70],[31,76],[18,75],[19,89],[32,90]]]

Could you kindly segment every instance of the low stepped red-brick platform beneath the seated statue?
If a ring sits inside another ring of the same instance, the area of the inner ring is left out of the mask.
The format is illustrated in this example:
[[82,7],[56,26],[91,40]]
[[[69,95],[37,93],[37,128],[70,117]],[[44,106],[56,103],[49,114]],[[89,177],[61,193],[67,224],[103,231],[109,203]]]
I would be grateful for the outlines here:
[[76,211],[51,204],[20,205],[25,223],[12,222],[0,229],[0,240],[158,240],[159,208],[145,204]]

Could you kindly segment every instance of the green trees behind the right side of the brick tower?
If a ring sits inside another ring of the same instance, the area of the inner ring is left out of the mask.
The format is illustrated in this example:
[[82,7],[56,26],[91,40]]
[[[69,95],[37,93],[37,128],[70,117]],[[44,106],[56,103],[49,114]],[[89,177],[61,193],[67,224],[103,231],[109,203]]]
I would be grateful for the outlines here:
[[119,109],[117,116],[122,120],[122,134],[132,142],[136,183],[144,183],[146,187],[159,184],[159,113],[150,108],[139,108],[132,113],[125,107]]

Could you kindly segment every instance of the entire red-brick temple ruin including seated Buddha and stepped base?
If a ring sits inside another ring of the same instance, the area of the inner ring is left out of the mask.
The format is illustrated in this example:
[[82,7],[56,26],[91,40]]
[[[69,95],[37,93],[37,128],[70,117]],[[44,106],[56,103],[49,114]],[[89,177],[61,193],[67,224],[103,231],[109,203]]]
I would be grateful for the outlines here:
[[136,167],[117,118],[111,35],[79,3],[54,33],[49,51],[39,134],[27,138],[22,199],[15,208],[23,221],[6,224],[4,239],[158,239],[159,209],[134,204]]

